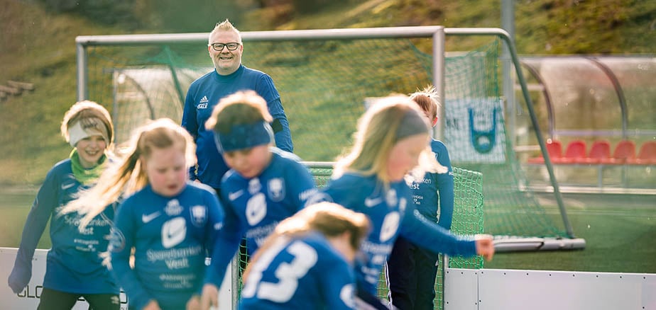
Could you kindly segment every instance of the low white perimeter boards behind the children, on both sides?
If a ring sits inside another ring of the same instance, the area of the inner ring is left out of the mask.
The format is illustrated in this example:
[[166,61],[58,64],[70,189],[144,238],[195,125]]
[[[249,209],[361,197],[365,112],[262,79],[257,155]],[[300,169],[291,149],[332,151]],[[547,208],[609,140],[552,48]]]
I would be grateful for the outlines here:
[[[46,250],[36,250],[32,280],[13,294],[6,285],[16,259],[16,248],[0,248],[1,309],[36,309],[45,275]],[[230,309],[231,272],[219,292],[219,309]],[[128,309],[121,292],[121,310]],[[77,309],[88,309],[77,302]],[[444,272],[446,310],[656,310],[656,274],[615,272],[570,272],[545,270],[499,270],[447,268]]]

